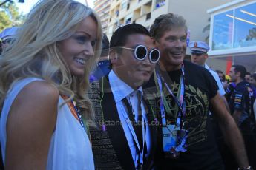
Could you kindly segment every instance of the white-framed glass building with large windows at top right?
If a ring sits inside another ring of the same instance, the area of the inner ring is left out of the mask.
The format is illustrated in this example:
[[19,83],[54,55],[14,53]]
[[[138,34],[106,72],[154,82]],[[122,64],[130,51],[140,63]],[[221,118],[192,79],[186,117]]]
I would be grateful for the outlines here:
[[211,15],[211,63],[226,73],[232,64],[256,72],[256,1],[235,0],[207,12]]

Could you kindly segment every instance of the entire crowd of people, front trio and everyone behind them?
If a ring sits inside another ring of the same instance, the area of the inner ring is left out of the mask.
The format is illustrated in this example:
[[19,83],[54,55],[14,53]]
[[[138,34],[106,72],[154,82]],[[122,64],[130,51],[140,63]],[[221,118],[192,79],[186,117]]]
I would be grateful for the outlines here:
[[73,0],[0,34],[0,169],[256,169],[256,73],[206,64],[183,16],[110,41]]

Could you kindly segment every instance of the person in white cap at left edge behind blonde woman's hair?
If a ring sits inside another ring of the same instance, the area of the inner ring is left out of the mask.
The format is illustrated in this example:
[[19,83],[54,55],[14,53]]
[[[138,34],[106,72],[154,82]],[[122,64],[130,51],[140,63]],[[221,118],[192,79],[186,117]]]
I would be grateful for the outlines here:
[[13,41],[13,38],[15,38],[17,30],[18,30],[18,27],[10,27],[10,28],[4,29],[0,33],[1,47],[3,51],[6,50],[7,47],[9,47],[10,42]]

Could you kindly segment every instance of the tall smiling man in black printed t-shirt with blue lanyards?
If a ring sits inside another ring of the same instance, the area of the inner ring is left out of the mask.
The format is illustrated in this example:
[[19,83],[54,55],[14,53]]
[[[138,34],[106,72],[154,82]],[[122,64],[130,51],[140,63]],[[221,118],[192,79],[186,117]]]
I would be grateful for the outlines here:
[[209,125],[210,108],[240,169],[249,168],[243,138],[217,92],[216,81],[207,69],[184,61],[185,19],[173,13],[161,15],[150,32],[161,52],[159,66],[148,84],[156,86],[153,102],[158,103],[157,115],[163,126],[157,157],[160,168],[223,169]]

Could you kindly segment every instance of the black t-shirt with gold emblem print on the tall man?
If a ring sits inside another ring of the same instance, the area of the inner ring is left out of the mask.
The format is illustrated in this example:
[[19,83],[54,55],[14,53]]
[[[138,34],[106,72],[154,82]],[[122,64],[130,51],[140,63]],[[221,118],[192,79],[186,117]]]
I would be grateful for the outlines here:
[[[221,169],[222,161],[214,140],[214,134],[209,124],[209,100],[217,95],[217,83],[211,73],[200,66],[184,61],[185,69],[185,101],[186,117],[183,119],[184,127],[188,130],[187,151],[181,152],[178,159],[172,160],[163,158],[162,132],[160,132],[159,151],[157,164],[161,169]],[[168,84],[174,95],[180,85],[181,69],[165,72],[171,80]],[[145,89],[155,86],[154,78],[148,82]],[[163,89],[167,95],[166,101],[171,109],[171,113],[166,113],[168,122],[176,122],[177,115],[174,115],[175,102],[167,90]],[[157,96],[157,95],[156,95]],[[159,96],[159,95],[158,95]],[[160,98],[155,98],[157,103],[156,112],[160,117]],[[161,119],[160,119],[161,122]]]

